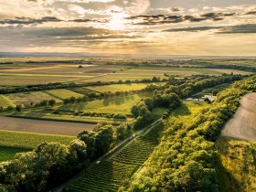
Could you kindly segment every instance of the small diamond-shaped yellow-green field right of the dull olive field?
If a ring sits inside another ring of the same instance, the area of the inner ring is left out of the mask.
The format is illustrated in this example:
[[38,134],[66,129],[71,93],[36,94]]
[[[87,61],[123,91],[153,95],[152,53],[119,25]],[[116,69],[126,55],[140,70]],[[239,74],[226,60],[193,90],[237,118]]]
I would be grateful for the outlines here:
[[69,91],[66,89],[60,89],[60,90],[49,90],[45,91],[49,95],[52,95],[55,98],[59,98],[60,100],[68,99],[70,97],[75,97],[75,98],[80,98],[83,97],[82,94],[74,92],[74,91]]

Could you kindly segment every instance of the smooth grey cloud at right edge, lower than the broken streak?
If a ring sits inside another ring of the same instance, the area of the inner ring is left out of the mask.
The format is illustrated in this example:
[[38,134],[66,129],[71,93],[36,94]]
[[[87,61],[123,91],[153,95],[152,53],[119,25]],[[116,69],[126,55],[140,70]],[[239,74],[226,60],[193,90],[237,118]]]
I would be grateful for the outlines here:
[[216,27],[183,27],[165,29],[163,32],[198,32],[219,29],[216,33],[232,34],[232,33],[256,33],[256,24],[237,25],[237,26],[216,26]]

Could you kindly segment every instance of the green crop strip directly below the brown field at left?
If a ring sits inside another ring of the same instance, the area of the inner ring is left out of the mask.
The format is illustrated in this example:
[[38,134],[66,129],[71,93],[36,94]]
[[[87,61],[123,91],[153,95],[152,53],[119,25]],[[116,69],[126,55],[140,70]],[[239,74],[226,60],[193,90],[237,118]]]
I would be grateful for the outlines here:
[[33,149],[43,142],[69,144],[75,137],[39,133],[20,133],[0,130],[0,146]]

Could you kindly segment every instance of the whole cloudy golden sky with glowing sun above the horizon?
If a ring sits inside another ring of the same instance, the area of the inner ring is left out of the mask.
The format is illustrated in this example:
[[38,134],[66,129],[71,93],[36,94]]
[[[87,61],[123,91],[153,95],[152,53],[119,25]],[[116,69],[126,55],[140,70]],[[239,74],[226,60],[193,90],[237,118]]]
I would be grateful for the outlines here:
[[0,0],[0,52],[256,56],[256,0]]

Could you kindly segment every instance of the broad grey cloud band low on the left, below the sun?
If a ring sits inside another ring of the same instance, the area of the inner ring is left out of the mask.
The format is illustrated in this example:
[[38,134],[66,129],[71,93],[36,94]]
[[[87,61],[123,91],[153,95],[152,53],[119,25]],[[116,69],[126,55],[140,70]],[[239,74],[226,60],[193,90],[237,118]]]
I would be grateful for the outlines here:
[[0,27],[1,45],[6,47],[73,47],[93,41],[117,42],[138,37],[142,36],[94,27]]

